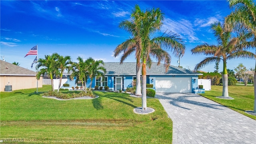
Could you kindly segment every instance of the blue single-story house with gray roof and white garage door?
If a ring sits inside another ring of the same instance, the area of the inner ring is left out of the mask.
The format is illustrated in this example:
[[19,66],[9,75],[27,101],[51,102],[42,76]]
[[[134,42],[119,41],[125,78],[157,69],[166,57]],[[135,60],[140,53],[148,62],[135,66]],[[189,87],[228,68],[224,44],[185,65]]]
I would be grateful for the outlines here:
[[[136,79],[136,62],[105,62],[104,67],[107,73],[105,77],[96,80],[93,79],[92,88],[94,86],[108,86],[110,90],[123,90],[132,87],[132,81]],[[156,92],[188,92],[192,93],[193,88],[198,88],[198,75],[200,73],[192,72],[177,66],[170,66],[168,72],[165,72],[164,64],[157,66],[154,62],[151,68],[147,68],[147,84],[153,84],[153,89]],[[69,77],[69,76],[68,76]],[[75,84],[69,79],[64,80],[64,83],[72,86],[81,86]],[[88,79],[86,86],[90,86]],[[65,88],[65,87],[62,87]]]

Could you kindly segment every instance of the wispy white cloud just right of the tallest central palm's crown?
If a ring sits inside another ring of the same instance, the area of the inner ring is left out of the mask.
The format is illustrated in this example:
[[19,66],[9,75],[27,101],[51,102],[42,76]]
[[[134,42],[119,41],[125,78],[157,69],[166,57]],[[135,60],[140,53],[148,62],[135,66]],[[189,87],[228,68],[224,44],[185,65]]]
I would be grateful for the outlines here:
[[186,38],[189,42],[197,42],[199,39],[194,32],[193,25],[188,20],[171,20],[166,18],[162,25],[162,32],[172,31],[176,34],[179,34],[181,38]]

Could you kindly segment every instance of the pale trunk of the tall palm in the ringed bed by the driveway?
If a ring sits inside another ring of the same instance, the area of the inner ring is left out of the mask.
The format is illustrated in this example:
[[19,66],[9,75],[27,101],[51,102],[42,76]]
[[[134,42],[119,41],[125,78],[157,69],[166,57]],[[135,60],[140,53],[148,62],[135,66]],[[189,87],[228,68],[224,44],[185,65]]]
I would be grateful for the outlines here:
[[147,109],[146,96],[146,62],[142,64],[142,110]]

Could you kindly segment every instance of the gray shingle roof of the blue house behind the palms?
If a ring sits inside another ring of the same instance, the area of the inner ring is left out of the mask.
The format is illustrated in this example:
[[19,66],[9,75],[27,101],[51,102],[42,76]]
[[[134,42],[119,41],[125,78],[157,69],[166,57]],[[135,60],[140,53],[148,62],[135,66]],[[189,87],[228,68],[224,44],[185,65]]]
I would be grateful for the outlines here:
[[[136,62],[105,62],[106,75],[136,75]],[[156,62],[152,63],[151,68],[147,67],[147,75],[202,75],[198,72],[192,72],[178,66],[170,66],[168,72],[165,72],[164,64],[157,66]]]

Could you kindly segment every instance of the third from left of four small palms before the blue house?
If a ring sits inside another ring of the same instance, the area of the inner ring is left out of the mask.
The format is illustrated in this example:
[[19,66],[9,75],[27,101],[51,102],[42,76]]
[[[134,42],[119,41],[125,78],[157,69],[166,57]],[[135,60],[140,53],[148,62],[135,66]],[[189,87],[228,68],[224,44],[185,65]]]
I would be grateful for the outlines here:
[[[87,72],[88,66],[84,62],[83,58],[81,58],[80,56],[78,56],[77,60],[78,60],[78,63],[74,62],[71,65],[72,74],[70,74],[70,80],[74,80],[74,78],[76,77],[76,83],[78,83],[78,81],[81,81],[83,91],[87,92],[86,91],[86,82],[87,82],[87,77],[88,77],[88,72]],[[84,88],[84,82],[85,82],[85,88]]]

